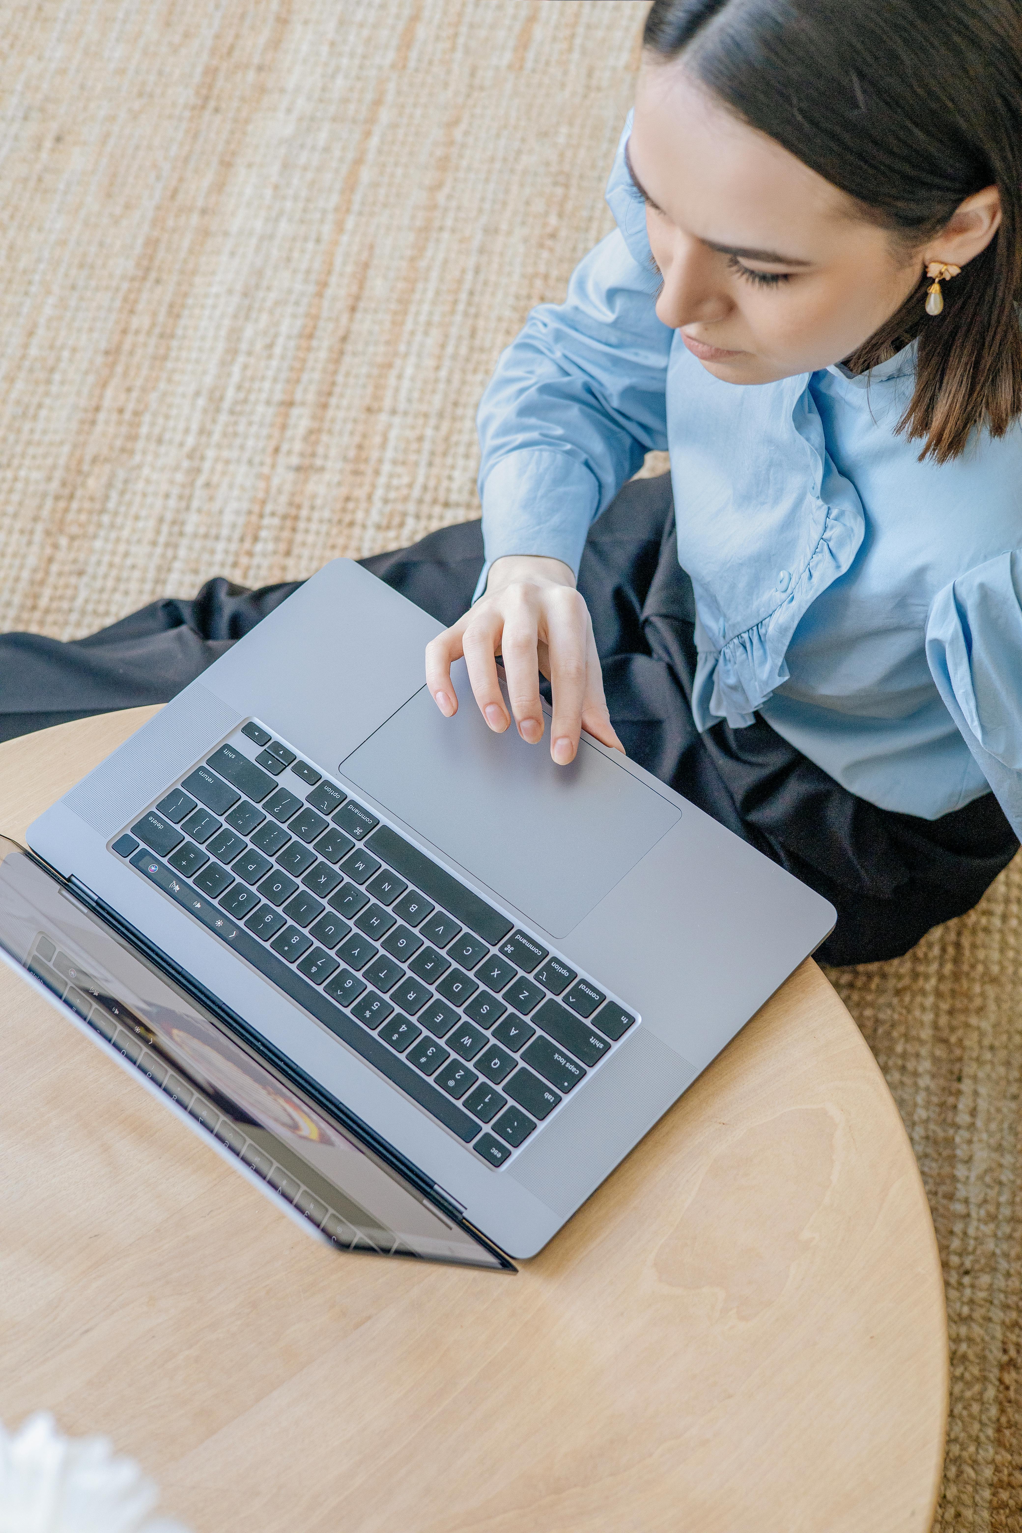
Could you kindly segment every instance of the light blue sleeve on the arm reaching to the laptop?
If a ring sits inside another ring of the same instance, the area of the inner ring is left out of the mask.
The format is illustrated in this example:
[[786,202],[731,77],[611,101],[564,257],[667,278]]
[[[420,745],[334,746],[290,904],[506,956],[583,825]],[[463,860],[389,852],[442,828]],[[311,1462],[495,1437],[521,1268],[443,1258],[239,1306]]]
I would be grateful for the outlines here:
[[541,304],[501,354],[478,414],[486,589],[493,560],[542,553],[578,570],[590,523],[651,449],[667,448],[673,331],[645,210],[617,146],[607,201],[617,228],[585,256],[564,304]]

